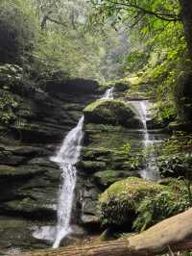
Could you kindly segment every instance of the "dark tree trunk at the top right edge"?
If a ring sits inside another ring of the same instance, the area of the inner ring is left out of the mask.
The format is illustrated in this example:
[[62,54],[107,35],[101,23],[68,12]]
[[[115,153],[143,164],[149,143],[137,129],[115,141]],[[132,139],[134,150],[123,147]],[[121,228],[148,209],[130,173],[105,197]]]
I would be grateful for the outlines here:
[[192,1],[180,0],[180,6],[184,34],[188,43],[189,54],[192,59]]

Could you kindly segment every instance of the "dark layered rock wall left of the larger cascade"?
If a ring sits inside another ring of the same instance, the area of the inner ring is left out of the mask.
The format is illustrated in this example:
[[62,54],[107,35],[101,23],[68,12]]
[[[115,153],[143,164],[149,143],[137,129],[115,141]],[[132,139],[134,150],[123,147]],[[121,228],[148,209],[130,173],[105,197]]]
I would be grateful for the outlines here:
[[32,230],[56,221],[60,168],[49,158],[97,90],[96,82],[81,79],[52,81],[43,90],[1,87],[18,107],[0,127],[0,248],[44,246]]

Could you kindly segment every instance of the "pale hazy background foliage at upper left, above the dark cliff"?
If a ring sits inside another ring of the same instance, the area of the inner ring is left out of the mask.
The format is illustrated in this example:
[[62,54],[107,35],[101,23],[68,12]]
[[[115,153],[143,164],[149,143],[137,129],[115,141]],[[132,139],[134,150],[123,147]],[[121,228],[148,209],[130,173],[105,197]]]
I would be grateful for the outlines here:
[[108,24],[106,34],[86,28],[89,3],[2,0],[0,10],[0,63],[21,64],[37,82],[59,71],[102,82],[118,76],[120,64],[110,55],[120,37]]

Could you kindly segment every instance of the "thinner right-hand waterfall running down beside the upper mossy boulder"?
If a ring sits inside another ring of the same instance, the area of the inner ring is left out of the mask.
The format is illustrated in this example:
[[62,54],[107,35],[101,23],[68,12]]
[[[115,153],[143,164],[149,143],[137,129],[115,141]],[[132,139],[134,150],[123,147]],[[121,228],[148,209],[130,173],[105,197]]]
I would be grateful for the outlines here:
[[[153,148],[155,147],[155,143],[160,141],[155,141],[153,137],[150,136],[147,128],[149,102],[147,100],[139,100],[139,101],[131,101],[130,103],[133,106],[133,108],[136,110],[136,113],[143,124],[144,150],[152,151]],[[156,155],[153,151],[149,153],[146,159],[146,162],[147,162],[146,167],[140,171],[141,177],[149,180],[159,179],[158,167],[156,166]]]

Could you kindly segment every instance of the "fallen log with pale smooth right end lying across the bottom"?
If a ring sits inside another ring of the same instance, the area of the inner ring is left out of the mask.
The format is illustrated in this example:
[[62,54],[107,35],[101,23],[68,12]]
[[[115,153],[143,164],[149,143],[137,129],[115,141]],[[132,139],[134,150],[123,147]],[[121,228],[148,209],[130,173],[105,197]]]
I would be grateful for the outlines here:
[[192,249],[192,208],[128,240],[26,252],[20,256],[152,256],[186,249]]

